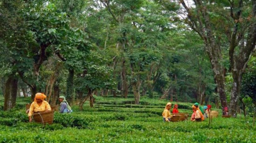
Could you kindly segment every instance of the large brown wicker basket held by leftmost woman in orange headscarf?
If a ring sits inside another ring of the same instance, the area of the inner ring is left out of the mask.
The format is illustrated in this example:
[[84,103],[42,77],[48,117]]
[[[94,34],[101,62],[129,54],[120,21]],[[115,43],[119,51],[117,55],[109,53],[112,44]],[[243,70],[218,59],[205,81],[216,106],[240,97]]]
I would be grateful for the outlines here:
[[54,110],[47,111],[47,112],[38,112],[33,114],[35,122],[42,123],[42,124],[52,124],[53,117],[54,117]]

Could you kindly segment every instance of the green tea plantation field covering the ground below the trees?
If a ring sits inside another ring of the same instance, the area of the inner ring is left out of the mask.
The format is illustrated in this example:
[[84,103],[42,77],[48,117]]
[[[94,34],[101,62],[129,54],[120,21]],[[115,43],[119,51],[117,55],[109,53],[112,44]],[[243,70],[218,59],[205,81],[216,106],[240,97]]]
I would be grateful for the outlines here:
[[[142,97],[140,105],[131,104],[133,100],[99,97],[93,108],[86,103],[83,111],[72,106],[74,112],[70,114],[55,112],[53,124],[43,126],[28,123],[25,104],[29,98],[18,98],[16,108],[4,112],[1,96],[0,142],[256,142],[252,117],[219,116],[209,126],[209,119],[163,123],[161,115],[167,100]],[[179,111],[191,116],[191,106],[192,103],[179,103]]]

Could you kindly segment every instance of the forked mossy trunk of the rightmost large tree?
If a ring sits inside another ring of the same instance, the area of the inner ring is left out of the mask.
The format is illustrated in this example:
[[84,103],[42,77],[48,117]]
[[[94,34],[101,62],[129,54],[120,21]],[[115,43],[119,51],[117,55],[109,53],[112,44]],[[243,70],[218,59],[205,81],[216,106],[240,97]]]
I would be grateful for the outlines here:
[[[242,1],[239,3],[239,7],[241,9],[242,7]],[[239,22],[241,11],[237,12],[237,16],[233,17],[234,21]],[[256,1],[252,1],[252,12],[251,16],[253,19],[256,18]],[[247,63],[249,61],[250,54],[253,53],[253,50],[255,48],[256,43],[256,22],[255,20],[252,21],[250,26],[248,27],[248,33],[243,33],[244,35],[247,35],[246,42],[244,41],[244,36],[240,38],[237,38],[238,34],[238,26],[239,23],[235,23],[233,33],[231,35],[231,42],[230,42],[230,48],[229,48],[229,60],[231,65],[231,72],[233,77],[233,85],[231,90],[231,100],[230,100],[230,113],[233,117],[236,117],[237,110],[236,107],[238,106],[238,100],[239,100],[239,94],[240,94],[240,85],[242,81],[242,74],[245,71],[245,68],[247,66]],[[240,39],[240,41],[238,40]],[[238,51],[235,51],[235,47],[237,47],[237,44],[240,42],[239,45],[239,54],[237,54]],[[246,43],[246,45],[245,45]]]

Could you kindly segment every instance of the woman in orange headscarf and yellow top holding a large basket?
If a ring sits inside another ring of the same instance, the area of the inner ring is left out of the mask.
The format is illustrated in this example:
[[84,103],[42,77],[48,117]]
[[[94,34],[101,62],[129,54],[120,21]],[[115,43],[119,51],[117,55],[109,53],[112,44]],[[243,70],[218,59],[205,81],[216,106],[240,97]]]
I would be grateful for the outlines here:
[[43,111],[51,111],[52,108],[50,104],[45,101],[46,95],[43,93],[37,93],[35,94],[34,102],[31,103],[30,108],[29,108],[29,122],[32,121],[31,116],[33,115],[34,112],[43,112]]

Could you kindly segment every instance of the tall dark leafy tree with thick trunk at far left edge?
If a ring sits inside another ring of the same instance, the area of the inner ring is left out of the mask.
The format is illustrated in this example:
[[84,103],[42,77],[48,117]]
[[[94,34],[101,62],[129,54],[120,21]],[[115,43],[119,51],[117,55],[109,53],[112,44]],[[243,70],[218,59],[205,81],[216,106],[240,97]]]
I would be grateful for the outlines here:
[[4,110],[13,108],[16,103],[17,69],[30,68],[25,64],[30,60],[23,54],[27,51],[26,47],[29,44],[33,45],[33,42],[24,34],[26,33],[26,26],[21,15],[21,9],[24,8],[24,5],[19,3],[21,3],[19,0],[0,2],[0,54],[2,55],[0,67],[1,75],[7,78],[4,84]]

